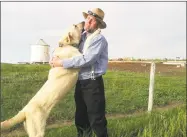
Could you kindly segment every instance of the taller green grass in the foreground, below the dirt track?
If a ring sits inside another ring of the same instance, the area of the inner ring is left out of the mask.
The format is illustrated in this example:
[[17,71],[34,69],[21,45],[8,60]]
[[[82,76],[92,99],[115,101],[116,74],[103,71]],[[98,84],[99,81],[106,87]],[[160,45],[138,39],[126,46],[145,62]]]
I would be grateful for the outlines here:
[[[185,137],[186,106],[108,120],[110,137]],[[47,129],[45,137],[75,137],[75,125]],[[25,136],[26,137],[26,136]]]

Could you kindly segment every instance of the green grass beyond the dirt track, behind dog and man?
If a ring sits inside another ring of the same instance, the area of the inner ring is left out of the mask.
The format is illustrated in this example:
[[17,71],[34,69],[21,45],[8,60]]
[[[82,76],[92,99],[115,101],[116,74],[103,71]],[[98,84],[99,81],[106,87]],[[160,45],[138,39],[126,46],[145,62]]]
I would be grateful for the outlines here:
[[[2,64],[1,71],[1,119],[15,115],[47,80],[49,65]],[[146,110],[148,102],[149,74],[108,71],[104,75],[106,112],[132,113]],[[72,90],[52,110],[49,121],[72,120],[75,104]],[[154,105],[185,102],[186,77],[160,76],[155,78]]]

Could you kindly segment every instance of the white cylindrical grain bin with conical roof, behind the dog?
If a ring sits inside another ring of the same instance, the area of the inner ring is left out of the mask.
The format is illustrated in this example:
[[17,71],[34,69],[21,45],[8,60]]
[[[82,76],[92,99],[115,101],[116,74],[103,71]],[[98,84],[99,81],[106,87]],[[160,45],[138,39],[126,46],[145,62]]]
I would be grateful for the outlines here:
[[31,60],[30,63],[48,63],[49,45],[40,39],[36,44],[31,45]]

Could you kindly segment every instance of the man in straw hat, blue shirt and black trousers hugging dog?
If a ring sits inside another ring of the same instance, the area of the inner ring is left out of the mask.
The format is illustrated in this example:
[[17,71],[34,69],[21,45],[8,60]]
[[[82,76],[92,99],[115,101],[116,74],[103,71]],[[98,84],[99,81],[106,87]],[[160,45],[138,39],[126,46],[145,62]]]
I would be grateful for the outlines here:
[[102,75],[106,73],[108,64],[108,43],[101,34],[96,35],[85,51],[85,41],[96,30],[106,28],[103,21],[104,12],[95,8],[83,12],[85,20],[79,50],[83,53],[71,59],[54,58],[53,67],[80,68],[75,88],[75,125],[78,137],[91,137],[92,130],[97,137],[108,137],[107,120],[105,117],[105,93]]

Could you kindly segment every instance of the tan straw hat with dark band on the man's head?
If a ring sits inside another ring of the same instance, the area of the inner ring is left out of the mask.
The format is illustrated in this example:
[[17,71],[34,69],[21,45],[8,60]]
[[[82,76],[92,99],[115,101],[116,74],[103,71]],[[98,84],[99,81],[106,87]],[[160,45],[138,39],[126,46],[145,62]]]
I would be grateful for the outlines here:
[[107,25],[103,21],[105,13],[100,8],[95,8],[95,9],[89,10],[87,13],[83,12],[83,16],[85,19],[87,18],[88,15],[94,16],[101,23],[101,25],[99,26],[100,29],[106,28]]

